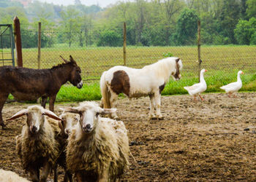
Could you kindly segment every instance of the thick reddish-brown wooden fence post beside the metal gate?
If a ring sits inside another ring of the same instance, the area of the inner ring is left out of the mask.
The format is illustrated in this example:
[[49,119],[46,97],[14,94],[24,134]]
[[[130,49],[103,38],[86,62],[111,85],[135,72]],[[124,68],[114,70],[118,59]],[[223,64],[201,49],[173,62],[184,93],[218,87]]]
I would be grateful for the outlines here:
[[20,36],[20,20],[17,16],[13,19],[14,22],[14,35],[15,35],[15,46],[17,52],[17,65],[19,67],[23,66],[22,60],[22,47],[21,47],[21,36]]

